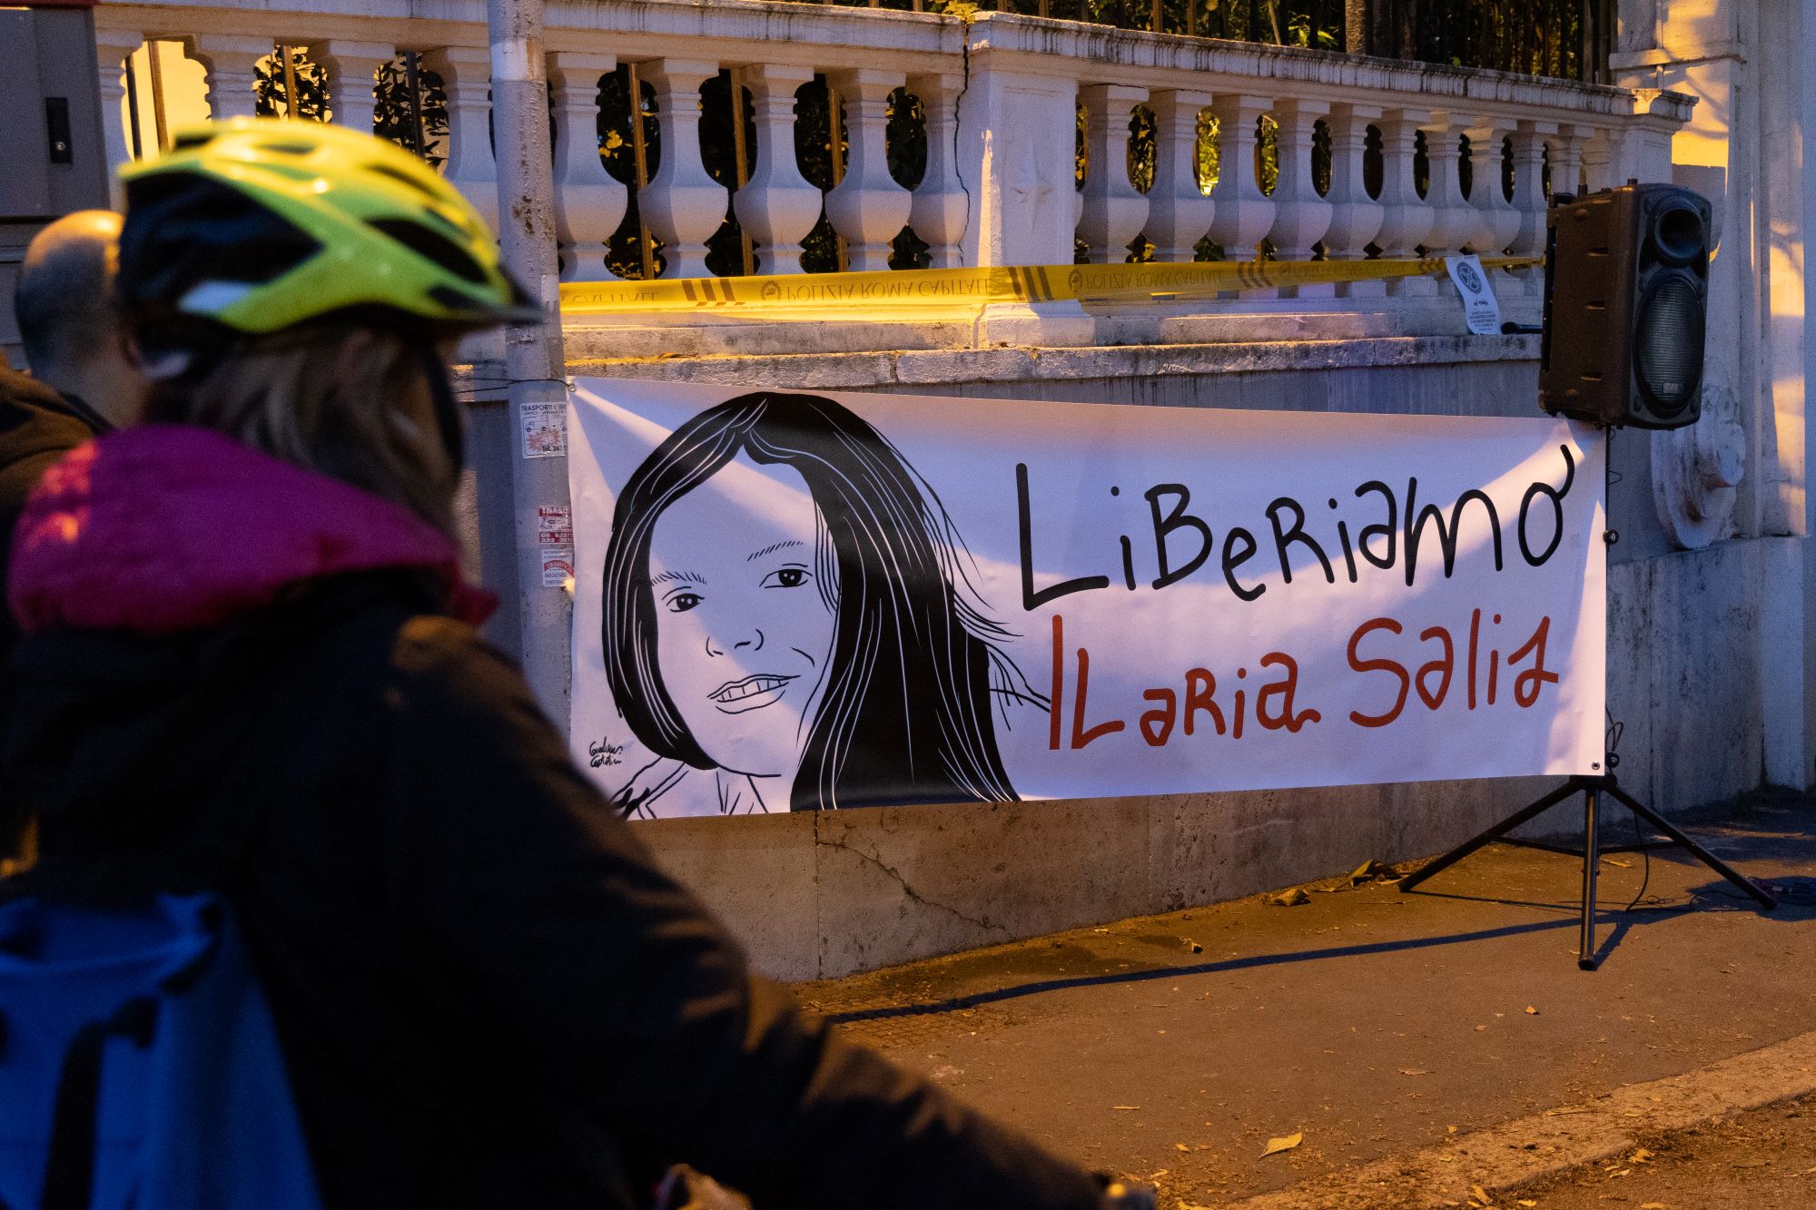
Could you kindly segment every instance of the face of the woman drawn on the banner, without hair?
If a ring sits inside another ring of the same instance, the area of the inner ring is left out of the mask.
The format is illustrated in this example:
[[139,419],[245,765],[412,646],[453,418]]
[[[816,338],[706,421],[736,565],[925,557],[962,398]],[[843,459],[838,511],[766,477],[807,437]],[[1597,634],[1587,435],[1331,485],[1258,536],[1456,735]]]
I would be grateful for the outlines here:
[[817,529],[799,471],[739,454],[668,505],[650,536],[663,687],[714,763],[785,779],[765,792],[783,803],[832,654]]

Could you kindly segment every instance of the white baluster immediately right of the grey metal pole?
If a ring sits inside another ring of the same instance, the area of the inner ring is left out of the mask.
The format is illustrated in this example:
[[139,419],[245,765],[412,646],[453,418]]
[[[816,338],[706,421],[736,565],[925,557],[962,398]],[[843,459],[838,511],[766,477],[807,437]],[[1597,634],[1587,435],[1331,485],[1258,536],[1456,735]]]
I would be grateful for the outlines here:
[[614,55],[554,51],[548,96],[556,111],[556,238],[563,282],[608,282],[605,242],[617,231],[630,191],[599,158],[599,76],[617,67]]

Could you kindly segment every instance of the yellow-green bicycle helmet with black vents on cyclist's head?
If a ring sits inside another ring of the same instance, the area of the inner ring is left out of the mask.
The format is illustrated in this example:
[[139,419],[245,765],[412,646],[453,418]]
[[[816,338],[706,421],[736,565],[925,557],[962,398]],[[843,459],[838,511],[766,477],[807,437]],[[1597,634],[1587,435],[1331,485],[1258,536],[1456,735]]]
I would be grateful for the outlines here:
[[120,303],[153,345],[327,318],[427,336],[543,318],[472,205],[370,134],[209,122],[120,180]]

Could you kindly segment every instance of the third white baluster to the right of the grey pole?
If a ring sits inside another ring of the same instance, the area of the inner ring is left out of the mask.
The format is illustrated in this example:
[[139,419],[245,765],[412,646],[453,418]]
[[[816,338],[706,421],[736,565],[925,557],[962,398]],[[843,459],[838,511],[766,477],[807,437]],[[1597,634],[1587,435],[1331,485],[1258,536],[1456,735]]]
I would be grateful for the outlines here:
[[801,273],[801,240],[819,222],[819,189],[795,160],[795,91],[812,67],[752,64],[743,71],[757,125],[757,164],[732,196],[737,225],[763,249],[765,273]]

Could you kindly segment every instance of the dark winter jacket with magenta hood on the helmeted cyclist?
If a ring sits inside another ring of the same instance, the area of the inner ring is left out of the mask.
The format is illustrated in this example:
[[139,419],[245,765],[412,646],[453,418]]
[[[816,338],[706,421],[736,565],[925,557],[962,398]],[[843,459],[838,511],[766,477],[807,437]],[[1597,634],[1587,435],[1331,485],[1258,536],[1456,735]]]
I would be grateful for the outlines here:
[[403,511],[165,427],[62,463],[20,534],[31,879],[229,892],[329,1206],[614,1206],[672,1161],[786,1210],[1095,1205],[750,976]]

